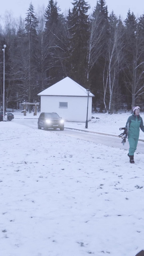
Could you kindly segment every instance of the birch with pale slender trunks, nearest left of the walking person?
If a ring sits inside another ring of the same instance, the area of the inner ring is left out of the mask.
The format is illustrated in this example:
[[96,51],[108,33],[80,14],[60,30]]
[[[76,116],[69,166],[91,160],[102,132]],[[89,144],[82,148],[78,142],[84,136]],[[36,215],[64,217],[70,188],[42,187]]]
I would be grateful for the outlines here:
[[[109,16],[109,39],[107,45],[106,65],[103,72],[104,105],[107,111],[106,96],[108,99],[108,113],[112,113],[112,98],[116,79],[119,75],[122,62],[123,42],[121,23],[112,12]],[[106,73],[106,75],[105,75]],[[109,95],[109,97],[108,97]]]

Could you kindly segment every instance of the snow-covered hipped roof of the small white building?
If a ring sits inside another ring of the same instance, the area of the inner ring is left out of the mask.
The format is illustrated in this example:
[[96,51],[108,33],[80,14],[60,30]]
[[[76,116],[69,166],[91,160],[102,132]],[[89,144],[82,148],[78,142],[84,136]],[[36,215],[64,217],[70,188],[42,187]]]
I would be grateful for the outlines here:
[[[70,77],[65,77],[55,85],[51,85],[40,92],[38,96],[87,96],[87,91]],[[92,93],[90,93],[89,96],[94,97]]]

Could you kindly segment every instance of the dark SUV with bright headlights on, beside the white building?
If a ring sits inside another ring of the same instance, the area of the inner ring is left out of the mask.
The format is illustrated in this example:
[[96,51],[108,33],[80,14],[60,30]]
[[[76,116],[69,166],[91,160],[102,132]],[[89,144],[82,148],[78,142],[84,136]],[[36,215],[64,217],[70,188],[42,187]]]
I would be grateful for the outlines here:
[[44,130],[47,130],[48,128],[53,128],[56,130],[60,128],[60,131],[64,130],[64,120],[56,112],[42,112],[38,118],[37,124],[38,129],[44,128]]

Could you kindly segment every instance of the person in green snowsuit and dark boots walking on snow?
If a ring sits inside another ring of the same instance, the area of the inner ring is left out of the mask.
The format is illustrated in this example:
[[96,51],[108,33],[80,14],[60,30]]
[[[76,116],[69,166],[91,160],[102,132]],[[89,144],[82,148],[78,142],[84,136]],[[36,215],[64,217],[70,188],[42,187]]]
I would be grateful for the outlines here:
[[144,123],[143,119],[140,116],[140,107],[133,107],[133,113],[129,116],[126,122],[126,128],[128,132],[128,141],[129,141],[129,153],[128,157],[130,158],[130,163],[134,163],[134,152],[137,147],[140,128],[144,132]]

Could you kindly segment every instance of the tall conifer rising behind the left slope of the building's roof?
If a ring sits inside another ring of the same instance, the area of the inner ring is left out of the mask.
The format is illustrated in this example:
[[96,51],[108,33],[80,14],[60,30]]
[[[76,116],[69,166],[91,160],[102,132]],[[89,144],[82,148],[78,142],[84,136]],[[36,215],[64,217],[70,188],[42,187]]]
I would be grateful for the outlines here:
[[63,59],[63,15],[57,2],[49,0],[45,12],[45,71],[47,87],[58,82],[63,76],[61,61]]

